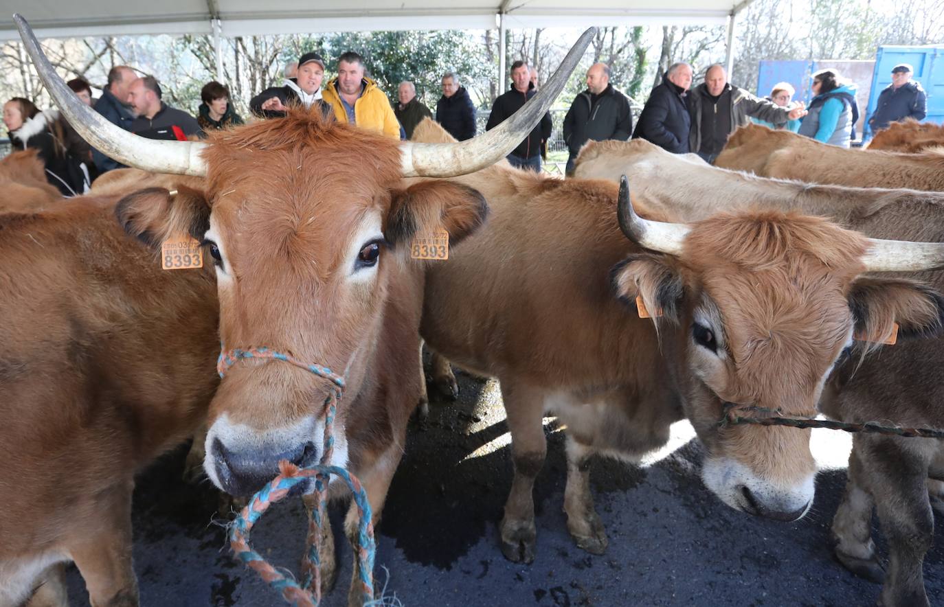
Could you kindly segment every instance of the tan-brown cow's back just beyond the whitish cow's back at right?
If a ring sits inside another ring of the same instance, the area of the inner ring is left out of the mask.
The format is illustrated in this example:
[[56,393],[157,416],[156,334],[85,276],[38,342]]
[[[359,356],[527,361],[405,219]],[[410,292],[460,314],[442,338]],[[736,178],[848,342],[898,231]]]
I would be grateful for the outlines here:
[[761,177],[800,179],[853,188],[944,191],[944,154],[904,154],[827,145],[785,130],[742,126],[715,165]]

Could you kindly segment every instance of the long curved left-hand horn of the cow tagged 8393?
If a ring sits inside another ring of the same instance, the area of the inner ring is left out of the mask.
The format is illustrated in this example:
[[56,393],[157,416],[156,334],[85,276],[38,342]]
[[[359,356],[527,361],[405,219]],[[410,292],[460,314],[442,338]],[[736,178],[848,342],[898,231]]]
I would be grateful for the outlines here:
[[56,74],[26,20],[15,14],[13,21],[20,30],[20,38],[23,39],[29,57],[33,59],[42,84],[82,139],[110,159],[144,171],[206,177],[207,165],[200,156],[206,143],[159,142],[139,137],[120,126],[112,125],[104,116],[79,101],[76,93]]

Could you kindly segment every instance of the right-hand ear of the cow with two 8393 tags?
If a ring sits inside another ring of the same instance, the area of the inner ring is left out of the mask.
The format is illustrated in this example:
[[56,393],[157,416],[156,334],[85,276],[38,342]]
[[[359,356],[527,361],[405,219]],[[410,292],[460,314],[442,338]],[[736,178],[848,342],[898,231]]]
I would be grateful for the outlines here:
[[456,244],[478,229],[488,215],[488,205],[478,190],[452,181],[424,181],[396,190],[384,236],[404,248],[415,236],[449,232]]

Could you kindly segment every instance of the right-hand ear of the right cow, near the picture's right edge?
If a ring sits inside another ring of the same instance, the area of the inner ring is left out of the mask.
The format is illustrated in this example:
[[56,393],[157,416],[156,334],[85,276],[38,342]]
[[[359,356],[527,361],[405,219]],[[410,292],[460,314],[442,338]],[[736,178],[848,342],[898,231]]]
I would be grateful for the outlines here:
[[944,331],[944,298],[906,278],[857,278],[849,293],[856,335],[881,343],[899,324],[899,337],[936,337]]

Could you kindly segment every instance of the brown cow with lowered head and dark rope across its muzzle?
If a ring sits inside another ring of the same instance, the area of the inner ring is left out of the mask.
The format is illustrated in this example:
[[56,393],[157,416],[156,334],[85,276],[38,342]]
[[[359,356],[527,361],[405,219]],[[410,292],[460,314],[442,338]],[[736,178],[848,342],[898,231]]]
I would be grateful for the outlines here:
[[[414,136],[430,128],[427,121]],[[814,493],[808,432],[720,430],[722,402],[813,413],[853,323],[874,335],[893,318],[908,332],[938,325],[936,295],[858,278],[869,244],[820,220],[777,212],[706,220],[674,245],[677,256],[659,256],[615,225],[615,184],[502,165],[456,180],[479,189],[492,214],[430,267],[421,332],[449,360],[501,382],[514,481],[500,533],[514,561],[534,557],[531,488],[546,452],[545,413],[567,427],[565,512],[581,548],[599,553],[607,544],[588,459],[638,458],[665,444],[683,414],[708,447],[702,476],[718,497],[792,520]],[[658,333],[616,300],[613,268],[622,295],[639,293],[664,312]]]

